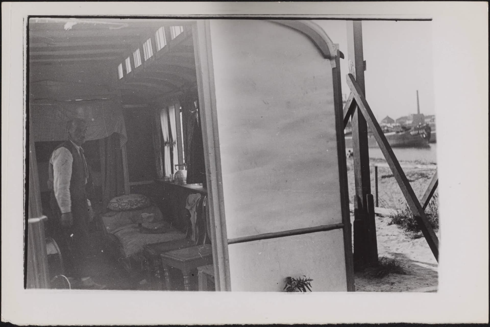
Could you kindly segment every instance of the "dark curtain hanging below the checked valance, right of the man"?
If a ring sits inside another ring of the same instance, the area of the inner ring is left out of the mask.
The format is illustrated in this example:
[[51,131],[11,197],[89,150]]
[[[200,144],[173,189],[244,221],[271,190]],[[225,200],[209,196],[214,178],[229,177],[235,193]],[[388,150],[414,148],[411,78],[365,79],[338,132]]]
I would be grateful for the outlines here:
[[113,198],[124,194],[124,173],[123,173],[123,155],[121,152],[121,143],[118,133],[113,133],[104,140],[104,171],[103,180],[103,208]]

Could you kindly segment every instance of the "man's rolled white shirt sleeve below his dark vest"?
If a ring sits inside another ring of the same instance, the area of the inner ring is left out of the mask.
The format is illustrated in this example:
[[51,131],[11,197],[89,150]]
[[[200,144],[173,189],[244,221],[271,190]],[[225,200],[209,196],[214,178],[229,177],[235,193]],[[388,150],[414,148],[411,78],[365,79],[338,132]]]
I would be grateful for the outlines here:
[[58,148],[51,155],[51,164],[53,165],[54,197],[58,202],[61,213],[71,212],[70,179],[72,178],[72,153],[65,147]]

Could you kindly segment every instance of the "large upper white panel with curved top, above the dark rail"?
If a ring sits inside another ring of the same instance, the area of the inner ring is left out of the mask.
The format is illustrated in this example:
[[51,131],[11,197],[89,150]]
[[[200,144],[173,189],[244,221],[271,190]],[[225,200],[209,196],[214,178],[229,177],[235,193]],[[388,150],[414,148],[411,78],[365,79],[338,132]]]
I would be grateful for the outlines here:
[[228,239],[341,223],[330,61],[267,21],[210,30]]

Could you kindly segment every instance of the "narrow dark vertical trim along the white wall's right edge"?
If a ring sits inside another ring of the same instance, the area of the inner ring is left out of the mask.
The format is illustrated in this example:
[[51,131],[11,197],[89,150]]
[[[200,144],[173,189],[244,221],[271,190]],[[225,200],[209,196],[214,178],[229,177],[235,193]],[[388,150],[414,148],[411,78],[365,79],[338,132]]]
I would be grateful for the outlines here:
[[[335,45],[338,50],[338,46]],[[343,248],[345,255],[345,275],[347,280],[347,292],[354,292],[354,260],[352,256],[352,226],[349,210],[349,186],[347,181],[347,163],[345,159],[345,138],[342,108],[342,80],[340,72],[340,55],[331,60],[332,77],[334,86],[335,128],[337,133],[337,157],[339,162],[340,201],[343,222]]]

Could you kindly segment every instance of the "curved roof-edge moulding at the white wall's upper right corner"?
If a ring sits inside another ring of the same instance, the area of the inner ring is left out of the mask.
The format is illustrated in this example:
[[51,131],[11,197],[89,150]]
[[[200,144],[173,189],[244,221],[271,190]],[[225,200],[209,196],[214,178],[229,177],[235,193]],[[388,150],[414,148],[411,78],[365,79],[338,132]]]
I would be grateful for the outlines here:
[[[288,26],[308,36],[325,59],[336,57],[337,48],[319,25],[304,20],[270,20],[270,22]],[[342,54],[341,57],[343,57]]]

